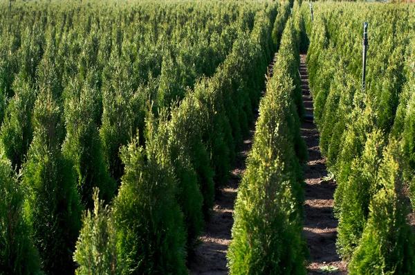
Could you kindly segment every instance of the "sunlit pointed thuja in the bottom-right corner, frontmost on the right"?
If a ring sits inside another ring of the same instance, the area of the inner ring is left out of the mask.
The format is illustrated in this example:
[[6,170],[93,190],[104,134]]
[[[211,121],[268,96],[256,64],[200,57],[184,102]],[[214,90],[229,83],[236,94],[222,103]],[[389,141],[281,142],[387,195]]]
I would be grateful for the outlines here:
[[370,205],[367,227],[353,254],[349,274],[414,274],[414,233],[407,224],[403,194],[403,150],[391,141],[379,168],[382,186]]

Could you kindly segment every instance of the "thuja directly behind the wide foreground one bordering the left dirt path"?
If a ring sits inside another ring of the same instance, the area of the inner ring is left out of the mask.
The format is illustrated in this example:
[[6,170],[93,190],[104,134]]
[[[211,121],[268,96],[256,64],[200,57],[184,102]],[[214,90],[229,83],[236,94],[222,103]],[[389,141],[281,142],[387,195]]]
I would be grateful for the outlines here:
[[[186,101],[185,99],[183,105],[174,108],[171,114],[172,119],[168,122],[165,113],[159,114],[158,125],[154,125],[158,127],[158,130],[154,132],[159,135],[154,138],[158,141],[158,150],[164,151],[169,159],[174,178],[177,179],[175,197],[183,213],[187,236],[186,246],[191,250],[203,228],[203,196],[192,157],[192,143],[198,140],[196,130],[198,123],[194,116],[194,109],[185,107]],[[185,112],[181,112],[182,107]],[[189,123],[189,119],[193,120],[192,123]]]

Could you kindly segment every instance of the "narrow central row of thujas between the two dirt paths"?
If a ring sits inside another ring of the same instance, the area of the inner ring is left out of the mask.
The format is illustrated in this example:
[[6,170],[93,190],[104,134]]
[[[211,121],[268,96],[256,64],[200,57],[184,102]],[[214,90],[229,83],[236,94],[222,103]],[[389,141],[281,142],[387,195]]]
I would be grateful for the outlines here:
[[238,189],[228,251],[230,274],[306,274],[301,163],[308,155],[300,134],[304,107],[298,73],[302,20],[295,2],[259,105],[252,150]]

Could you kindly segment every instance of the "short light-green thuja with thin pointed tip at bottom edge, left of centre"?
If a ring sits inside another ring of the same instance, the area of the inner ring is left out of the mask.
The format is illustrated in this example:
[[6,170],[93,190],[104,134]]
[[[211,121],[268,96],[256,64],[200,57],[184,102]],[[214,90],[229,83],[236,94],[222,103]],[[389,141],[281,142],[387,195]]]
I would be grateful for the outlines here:
[[75,274],[125,274],[124,263],[117,250],[116,227],[113,212],[93,191],[93,211],[87,210],[82,218],[82,229],[76,242],[73,260],[78,268]]

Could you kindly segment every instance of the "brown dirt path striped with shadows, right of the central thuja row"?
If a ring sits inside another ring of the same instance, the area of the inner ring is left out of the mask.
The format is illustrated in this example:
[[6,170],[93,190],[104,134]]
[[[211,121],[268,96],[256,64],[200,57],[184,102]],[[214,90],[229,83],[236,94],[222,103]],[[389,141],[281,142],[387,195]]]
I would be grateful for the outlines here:
[[[303,103],[306,114],[313,114],[313,98],[308,89],[308,73],[306,55],[300,55],[299,73],[302,78]],[[344,263],[335,251],[338,221],[333,218],[333,194],[335,183],[324,181],[327,175],[324,158],[320,154],[317,128],[311,122],[302,123],[302,136],[308,147],[307,170],[304,172],[306,181],[304,235],[306,236],[311,260],[308,274],[322,274],[320,267],[333,265],[339,268],[334,274],[347,274]]]

